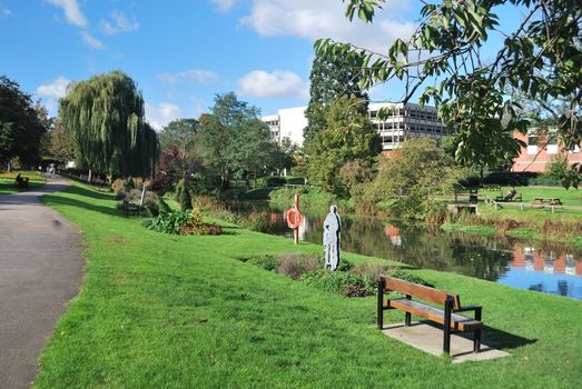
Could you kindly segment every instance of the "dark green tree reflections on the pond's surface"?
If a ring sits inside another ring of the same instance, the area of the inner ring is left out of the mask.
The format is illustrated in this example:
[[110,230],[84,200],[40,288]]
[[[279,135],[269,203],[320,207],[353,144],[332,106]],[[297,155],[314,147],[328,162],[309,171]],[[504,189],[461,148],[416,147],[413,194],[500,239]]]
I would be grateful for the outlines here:
[[[251,208],[266,209],[268,206],[253,205]],[[272,233],[289,236],[290,230],[284,217],[285,210],[272,210]],[[322,242],[322,217],[304,216],[303,240]],[[418,268],[456,272],[491,281],[497,280],[509,271],[514,260],[514,250],[541,247],[544,252],[551,251],[552,257],[556,258],[572,252],[572,249],[565,249],[558,243],[534,245],[506,237],[428,231],[420,225],[385,221],[373,217],[343,217],[342,221],[342,249],[345,251],[394,259]],[[582,258],[580,252],[574,256]]]

